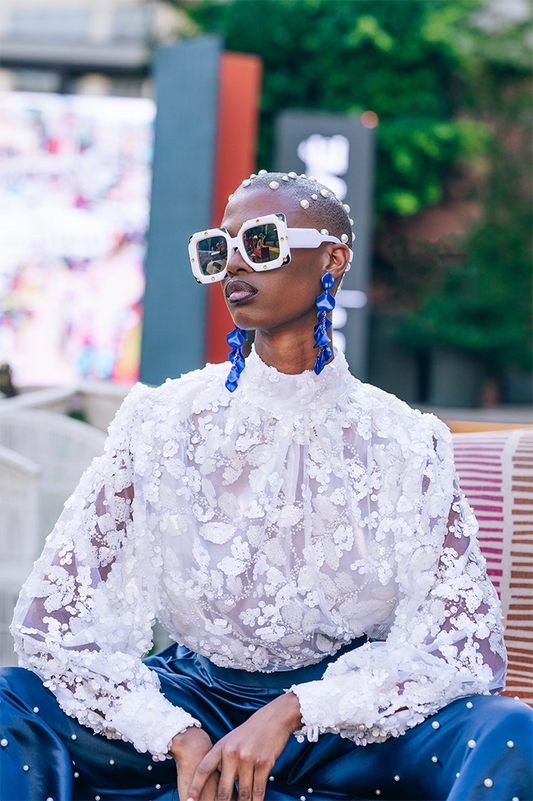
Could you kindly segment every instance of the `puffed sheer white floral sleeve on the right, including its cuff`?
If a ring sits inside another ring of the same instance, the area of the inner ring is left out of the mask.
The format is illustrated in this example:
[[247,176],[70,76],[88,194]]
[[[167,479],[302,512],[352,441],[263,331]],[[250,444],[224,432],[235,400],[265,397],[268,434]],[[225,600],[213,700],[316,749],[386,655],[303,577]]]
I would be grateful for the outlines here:
[[390,633],[339,657],[322,680],[291,688],[304,722],[299,737],[335,732],[380,742],[457,698],[503,687],[501,611],[477,522],[457,482],[448,429],[423,417],[393,523],[399,602]]

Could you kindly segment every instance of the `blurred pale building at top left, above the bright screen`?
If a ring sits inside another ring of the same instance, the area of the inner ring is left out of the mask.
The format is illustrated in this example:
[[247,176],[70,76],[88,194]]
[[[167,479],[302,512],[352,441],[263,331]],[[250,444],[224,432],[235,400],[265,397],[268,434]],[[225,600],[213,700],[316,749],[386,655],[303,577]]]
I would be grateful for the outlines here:
[[0,90],[149,95],[151,51],[184,24],[157,0],[2,0]]

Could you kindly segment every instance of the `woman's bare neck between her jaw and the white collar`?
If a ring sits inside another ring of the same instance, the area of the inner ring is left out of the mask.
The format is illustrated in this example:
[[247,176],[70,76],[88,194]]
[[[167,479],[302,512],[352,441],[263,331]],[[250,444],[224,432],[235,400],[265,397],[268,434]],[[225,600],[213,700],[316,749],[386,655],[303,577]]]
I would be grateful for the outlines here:
[[313,326],[316,315],[313,313],[312,325],[303,325],[300,331],[265,331],[258,329],[255,334],[255,350],[259,358],[269,367],[280,373],[298,375],[312,370],[318,351],[314,349]]

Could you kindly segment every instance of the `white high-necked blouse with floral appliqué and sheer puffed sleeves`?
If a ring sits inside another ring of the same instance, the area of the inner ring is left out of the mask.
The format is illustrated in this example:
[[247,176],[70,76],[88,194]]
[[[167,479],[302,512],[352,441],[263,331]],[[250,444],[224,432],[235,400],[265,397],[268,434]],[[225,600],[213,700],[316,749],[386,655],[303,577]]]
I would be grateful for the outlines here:
[[399,735],[502,687],[500,607],[436,418],[362,384],[255,354],[137,385],[22,591],[21,664],[68,714],[163,758],[199,725],[141,659],[158,618],[216,665],[288,671],[366,633],[293,687],[298,736]]

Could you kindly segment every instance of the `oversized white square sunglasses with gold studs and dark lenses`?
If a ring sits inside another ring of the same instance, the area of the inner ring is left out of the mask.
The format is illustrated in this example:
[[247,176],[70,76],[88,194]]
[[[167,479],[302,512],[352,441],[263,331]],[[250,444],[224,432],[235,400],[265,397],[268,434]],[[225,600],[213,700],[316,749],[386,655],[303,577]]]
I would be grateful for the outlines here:
[[[316,228],[287,228],[284,214],[267,214],[247,220],[235,237],[225,228],[193,234],[189,239],[189,259],[196,280],[210,284],[226,277],[235,248],[252,270],[261,272],[288,264],[291,248],[318,248],[323,242],[343,244],[336,236],[321,234]],[[349,250],[351,262],[353,253]]]

